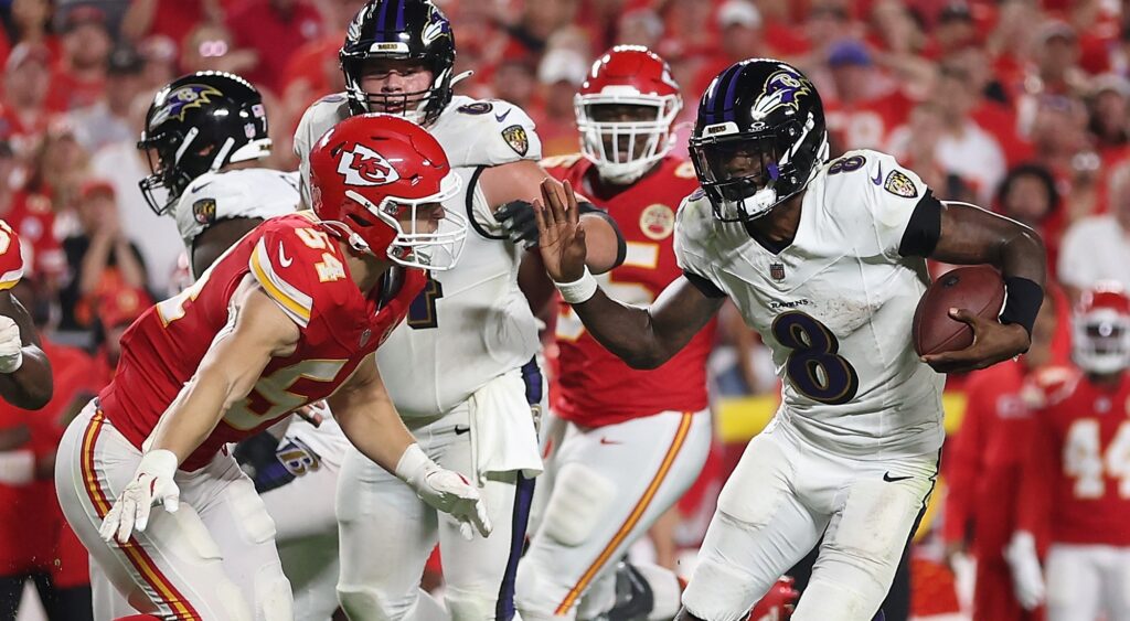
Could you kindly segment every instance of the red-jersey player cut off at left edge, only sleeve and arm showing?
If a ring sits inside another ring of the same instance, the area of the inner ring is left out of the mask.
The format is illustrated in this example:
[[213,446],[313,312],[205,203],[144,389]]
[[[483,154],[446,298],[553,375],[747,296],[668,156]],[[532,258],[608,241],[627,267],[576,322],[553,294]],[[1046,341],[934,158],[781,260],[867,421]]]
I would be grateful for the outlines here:
[[51,401],[51,365],[32,316],[11,295],[23,277],[19,237],[0,220],[0,396],[17,408],[38,410]]

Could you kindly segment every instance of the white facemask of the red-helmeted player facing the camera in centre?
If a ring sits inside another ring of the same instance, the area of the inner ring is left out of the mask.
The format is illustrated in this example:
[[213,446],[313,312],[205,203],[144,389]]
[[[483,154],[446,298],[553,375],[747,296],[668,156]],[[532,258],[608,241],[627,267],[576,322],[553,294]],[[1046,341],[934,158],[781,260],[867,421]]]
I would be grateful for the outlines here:
[[[671,151],[672,124],[683,108],[677,95],[640,95],[632,87],[624,88],[623,95],[605,88],[600,94],[577,95],[573,102],[581,151],[603,181],[615,184],[635,182]],[[646,120],[600,121],[601,106],[637,106],[649,113],[641,115]]]

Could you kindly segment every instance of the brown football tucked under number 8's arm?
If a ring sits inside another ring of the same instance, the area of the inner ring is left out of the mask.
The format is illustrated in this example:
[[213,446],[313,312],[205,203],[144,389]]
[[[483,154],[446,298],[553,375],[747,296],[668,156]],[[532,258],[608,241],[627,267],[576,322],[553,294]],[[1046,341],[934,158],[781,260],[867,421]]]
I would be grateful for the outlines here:
[[973,329],[949,316],[950,308],[996,320],[1005,304],[1005,281],[989,265],[957,268],[930,285],[914,312],[912,335],[919,356],[973,344]]

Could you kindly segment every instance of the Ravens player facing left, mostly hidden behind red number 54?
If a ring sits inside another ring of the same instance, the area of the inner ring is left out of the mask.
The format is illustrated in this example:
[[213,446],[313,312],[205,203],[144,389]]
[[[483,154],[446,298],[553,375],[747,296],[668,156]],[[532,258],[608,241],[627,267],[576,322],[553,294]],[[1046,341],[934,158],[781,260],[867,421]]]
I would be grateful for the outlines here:
[[[262,97],[243,78],[191,73],[169,82],[154,99],[138,142],[149,155],[153,174],[139,186],[157,215],[176,220],[192,272],[199,275],[263,220],[298,208],[298,175],[257,166],[270,155],[271,141]],[[162,112],[158,117],[167,102],[183,105],[179,113]],[[294,589],[295,619],[327,621],[338,607],[332,495],[349,440],[331,417],[312,414],[318,420],[295,416],[281,426],[281,440],[264,431],[241,443],[234,454],[275,521],[279,558]],[[101,572],[96,575],[95,596],[121,600]]]

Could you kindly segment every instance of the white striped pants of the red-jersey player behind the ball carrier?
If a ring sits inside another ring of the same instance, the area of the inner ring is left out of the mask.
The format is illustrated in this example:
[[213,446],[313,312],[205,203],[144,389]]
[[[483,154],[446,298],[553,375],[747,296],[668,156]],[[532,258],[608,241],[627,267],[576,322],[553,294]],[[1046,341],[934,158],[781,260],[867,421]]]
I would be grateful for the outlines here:
[[525,621],[593,619],[616,597],[616,563],[694,483],[710,411],[661,412],[605,427],[565,426],[547,446],[537,530],[518,570]]

